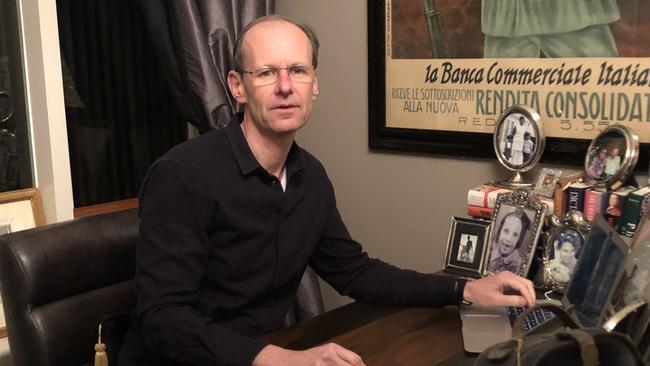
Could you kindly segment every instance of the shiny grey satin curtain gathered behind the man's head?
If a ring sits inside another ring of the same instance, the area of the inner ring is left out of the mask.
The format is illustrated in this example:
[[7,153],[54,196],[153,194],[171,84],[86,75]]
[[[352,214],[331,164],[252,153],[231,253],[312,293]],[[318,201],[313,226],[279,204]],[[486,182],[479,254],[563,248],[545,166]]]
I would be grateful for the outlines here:
[[166,84],[183,119],[200,133],[237,111],[227,85],[232,51],[250,21],[272,14],[275,0],[140,0]]

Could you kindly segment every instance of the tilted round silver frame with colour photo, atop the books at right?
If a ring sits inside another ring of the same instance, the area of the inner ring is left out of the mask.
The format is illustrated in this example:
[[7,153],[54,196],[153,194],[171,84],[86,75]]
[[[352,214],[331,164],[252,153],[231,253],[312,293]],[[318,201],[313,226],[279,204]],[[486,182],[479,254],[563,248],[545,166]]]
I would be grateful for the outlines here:
[[638,159],[639,137],[627,126],[609,126],[589,144],[585,176],[591,186],[616,190],[630,177]]

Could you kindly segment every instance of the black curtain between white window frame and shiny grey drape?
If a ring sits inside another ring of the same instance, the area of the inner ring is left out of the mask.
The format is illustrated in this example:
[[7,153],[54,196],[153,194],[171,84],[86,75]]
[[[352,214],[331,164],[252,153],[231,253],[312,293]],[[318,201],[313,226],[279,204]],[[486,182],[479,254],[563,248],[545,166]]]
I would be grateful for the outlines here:
[[131,0],[57,0],[75,207],[136,197],[151,163],[187,139]]

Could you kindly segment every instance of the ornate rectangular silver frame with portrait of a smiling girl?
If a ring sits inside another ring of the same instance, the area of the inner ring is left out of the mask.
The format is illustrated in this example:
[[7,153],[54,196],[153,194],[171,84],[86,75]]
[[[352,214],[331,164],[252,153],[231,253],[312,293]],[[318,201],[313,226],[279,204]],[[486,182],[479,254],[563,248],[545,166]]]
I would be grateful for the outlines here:
[[542,231],[546,204],[517,189],[497,198],[484,275],[508,270],[526,276]]

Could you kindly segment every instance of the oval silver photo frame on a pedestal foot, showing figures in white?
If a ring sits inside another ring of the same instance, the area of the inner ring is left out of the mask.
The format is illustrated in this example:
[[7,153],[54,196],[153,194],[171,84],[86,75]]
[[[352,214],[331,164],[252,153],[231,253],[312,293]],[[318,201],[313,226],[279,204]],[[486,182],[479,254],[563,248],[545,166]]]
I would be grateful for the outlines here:
[[521,176],[532,169],[544,153],[544,131],[539,114],[532,108],[514,105],[507,108],[494,127],[494,152],[501,165],[515,174],[499,182],[506,187],[530,187]]

